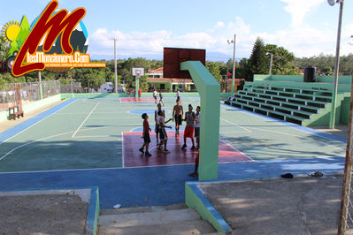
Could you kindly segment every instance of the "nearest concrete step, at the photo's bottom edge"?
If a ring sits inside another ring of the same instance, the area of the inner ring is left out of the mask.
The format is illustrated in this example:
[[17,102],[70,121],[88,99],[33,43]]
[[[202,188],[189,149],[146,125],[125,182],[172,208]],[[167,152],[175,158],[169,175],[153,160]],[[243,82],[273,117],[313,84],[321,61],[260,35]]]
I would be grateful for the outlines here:
[[[170,224],[145,225],[134,227],[98,227],[98,234],[155,235],[155,234],[213,234],[215,229],[204,220],[178,221]],[[219,235],[218,233],[214,233]],[[222,234],[222,233],[220,233]]]

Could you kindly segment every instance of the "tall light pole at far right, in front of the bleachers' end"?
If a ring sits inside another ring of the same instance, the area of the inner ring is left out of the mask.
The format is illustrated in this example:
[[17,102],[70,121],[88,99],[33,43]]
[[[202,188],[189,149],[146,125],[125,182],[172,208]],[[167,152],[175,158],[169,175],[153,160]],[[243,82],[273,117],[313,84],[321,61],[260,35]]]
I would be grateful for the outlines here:
[[334,4],[340,4],[340,15],[338,18],[338,30],[337,30],[337,41],[336,41],[336,57],[334,60],[334,88],[332,91],[332,105],[330,112],[330,124],[329,128],[334,129],[334,120],[336,117],[336,100],[337,100],[337,87],[338,87],[338,73],[340,71],[340,42],[341,42],[341,21],[343,11],[343,0],[327,0],[327,3],[331,6]]

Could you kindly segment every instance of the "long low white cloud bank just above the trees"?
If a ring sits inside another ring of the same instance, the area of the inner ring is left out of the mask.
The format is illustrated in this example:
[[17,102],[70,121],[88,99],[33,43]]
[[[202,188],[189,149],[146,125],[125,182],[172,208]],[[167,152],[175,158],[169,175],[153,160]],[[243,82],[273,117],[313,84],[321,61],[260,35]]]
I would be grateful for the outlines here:
[[[282,0],[289,1],[289,0]],[[342,27],[341,55],[353,53],[349,32],[353,32],[353,24]],[[216,22],[204,32],[173,34],[172,31],[160,30],[151,32],[121,32],[98,28],[89,36],[88,53],[96,56],[113,55],[113,38],[118,39],[118,55],[120,57],[136,57],[141,55],[158,55],[163,57],[164,47],[206,49],[207,53],[217,52],[219,57],[211,60],[227,60],[233,57],[233,44],[226,41],[234,39],[236,34],[236,57],[249,57],[257,37],[265,44],[276,44],[288,49],[295,57],[313,57],[320,53],[334,55],[336,31],[319,30],[307,25],[289,27],[268,33],[253,32],[251,26],[242,18],[236,17],[229,22]],[[206,53],[206,55],[207,55]],[[224,56],[222,56],[224,55]]]

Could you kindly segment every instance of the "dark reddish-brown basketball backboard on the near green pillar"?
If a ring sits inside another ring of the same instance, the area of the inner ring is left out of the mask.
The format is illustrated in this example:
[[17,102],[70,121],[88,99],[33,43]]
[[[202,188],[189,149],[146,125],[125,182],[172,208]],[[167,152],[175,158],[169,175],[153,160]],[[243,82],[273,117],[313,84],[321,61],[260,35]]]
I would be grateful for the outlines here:
[[163,77],[175,79],[191,79],[188,71],[180,71],[180,63],[184,61],[200,61],[206,63],[205,49],[165,48],[163,53]]

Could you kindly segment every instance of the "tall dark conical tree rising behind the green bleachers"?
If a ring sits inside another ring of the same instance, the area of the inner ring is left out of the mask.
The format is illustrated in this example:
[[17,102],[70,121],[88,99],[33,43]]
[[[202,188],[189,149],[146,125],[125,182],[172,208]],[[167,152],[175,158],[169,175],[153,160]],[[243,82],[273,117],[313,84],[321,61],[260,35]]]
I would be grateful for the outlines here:
[[249,69],[252,74],[266,74],[268,72],[265,45],[261,38],[254,43],[249,59]]

